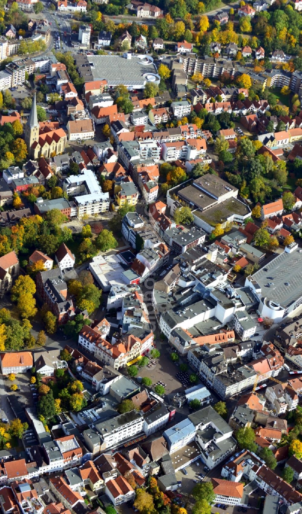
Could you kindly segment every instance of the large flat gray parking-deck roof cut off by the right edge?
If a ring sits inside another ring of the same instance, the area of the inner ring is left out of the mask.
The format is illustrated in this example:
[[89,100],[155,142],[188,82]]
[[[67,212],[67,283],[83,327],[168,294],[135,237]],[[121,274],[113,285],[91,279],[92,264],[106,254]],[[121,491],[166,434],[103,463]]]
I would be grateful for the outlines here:
[[[292,253],[283,252],[264,267],[268,271],[261,268],[252,276],[261,287],[263,297],[288,307],[302,296],[302,252],[298,250]],[[265,287],[270,282],[274,285]]]

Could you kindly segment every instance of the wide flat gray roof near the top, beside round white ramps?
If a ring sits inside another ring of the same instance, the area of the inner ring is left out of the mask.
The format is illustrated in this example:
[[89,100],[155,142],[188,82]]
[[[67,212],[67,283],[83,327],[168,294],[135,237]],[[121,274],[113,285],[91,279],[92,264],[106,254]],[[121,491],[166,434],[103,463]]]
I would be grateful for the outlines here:
[[138,57],[125,59],[121,56],[87,56],[94,80],[106,79],[109,86],[123,84],[140,86],[146,84],[145,74],[156,74],[154,64],[143,64]]

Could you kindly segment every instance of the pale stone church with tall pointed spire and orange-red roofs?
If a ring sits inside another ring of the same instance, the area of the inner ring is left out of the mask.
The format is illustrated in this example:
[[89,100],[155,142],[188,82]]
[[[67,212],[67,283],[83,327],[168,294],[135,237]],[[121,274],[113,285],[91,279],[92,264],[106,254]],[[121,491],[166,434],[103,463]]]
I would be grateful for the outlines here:
[[29,157],[52,157],[65,151],[67,135],[58,123],[39,123],[35,93],[28,121],[24,127],[24,140]]

